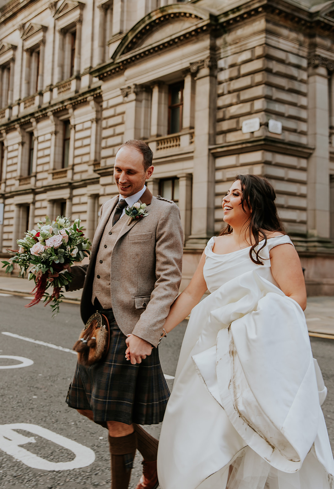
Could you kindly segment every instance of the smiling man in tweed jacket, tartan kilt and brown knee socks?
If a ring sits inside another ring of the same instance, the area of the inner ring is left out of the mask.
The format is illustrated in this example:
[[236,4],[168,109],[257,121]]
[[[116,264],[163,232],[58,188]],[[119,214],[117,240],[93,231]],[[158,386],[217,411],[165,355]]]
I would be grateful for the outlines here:
[[[158,442],[140,425],[161,422],[169,397],[157,346],[178,295],[182,230],[177,205],[153,197],[145,186],[153,173],[152,158],[143,141],[120,147],[113,171],[119,195],[102,205],[89,265],[71,268],[69,290],[84,287],[84,323],[102,312],[111,338],[103,360],[90,368],[77,365],[67,404],[108,427],[112,489],[128,488],[136,449],[144,459],[136,489],[157,488]],[[136,202],[147,205],[147,215],[131,220],[125,208]]]

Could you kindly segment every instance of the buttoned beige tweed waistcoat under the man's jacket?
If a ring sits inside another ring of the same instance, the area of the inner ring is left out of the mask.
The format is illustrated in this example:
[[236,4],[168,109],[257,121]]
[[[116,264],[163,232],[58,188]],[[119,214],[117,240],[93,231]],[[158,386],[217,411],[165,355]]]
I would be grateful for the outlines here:
[[[115,208],[116,209],[116,208]],[[93,291],[91,302],[94,304],[95,297],[104,309],[111,309],[111,254],[118,235],[122,230],[124,222],[129,219],[126,214],[116,224],[112,225],[115,209],[111,212],[109,221],[104,228],[100,245],[98,248],[94,269]]]

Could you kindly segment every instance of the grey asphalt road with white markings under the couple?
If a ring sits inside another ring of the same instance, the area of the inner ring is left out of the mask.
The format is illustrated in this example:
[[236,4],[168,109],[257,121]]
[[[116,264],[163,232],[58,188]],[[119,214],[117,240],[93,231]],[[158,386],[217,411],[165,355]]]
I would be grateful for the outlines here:
[[[39,304],[24,309],[27,303],[26,298],[0,294],[0,488],[108,488],[107,430],[65,403],[76,363],[76,356],[66,349],[71,350],[82,329],[79,307],[63,304],[60,314],[52,319],[48,307]],[[186,326],[183,323],[159,347],[163,371],[169,376],[175,374]],[[311,338],[311,342],[329,391],[323,410],[334,448],[334,341]],[[33,363],[22,368],[3,368],[27,361],[24,358]],[[173,380],[167,382],[171,388]],[[159,425],[147,429],[158,438]],[[140,477],[140,462],[137,454],[130,489]]]

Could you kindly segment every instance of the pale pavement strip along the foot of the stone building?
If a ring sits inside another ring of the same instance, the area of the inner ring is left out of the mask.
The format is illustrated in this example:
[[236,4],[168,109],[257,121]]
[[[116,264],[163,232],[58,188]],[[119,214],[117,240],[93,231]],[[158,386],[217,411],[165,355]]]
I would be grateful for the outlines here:
[[[29,295],[34,282],[19,277],[0,276],[0,293],[12,292],[14,295]],[[81,290],[64,292],[65,301],[79,303]],[[334,296],[308,297],[305,310],[310,336],[334,338]]]

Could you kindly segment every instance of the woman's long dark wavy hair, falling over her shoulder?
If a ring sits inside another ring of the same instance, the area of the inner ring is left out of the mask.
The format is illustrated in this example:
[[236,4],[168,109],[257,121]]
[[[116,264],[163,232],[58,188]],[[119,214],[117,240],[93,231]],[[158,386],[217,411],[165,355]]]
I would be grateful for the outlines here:
[[[267,244],[266,231],[279,231],[285,234],[274,202],[276,194],[267,178],[257,177],[256,175],[237,175],[235,179],[240,180],[243,190],[241,194],[243,211],[246,212],[245,207],[252,211],[249,219],[245,223],[248,229],[250,243],[252,243],[252,237],[255,239],[255,243],[249,250],[249,256],[252,262],[257,265],[263,265],[263,262],[259,258],[259,253]],[[232,231],[232,227],[227,224],[219,233],[219,236],[230,234]],[[265,241],[264,244],[255,251],[256,246],[263,238]]]

